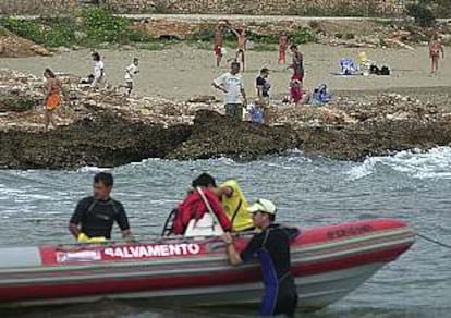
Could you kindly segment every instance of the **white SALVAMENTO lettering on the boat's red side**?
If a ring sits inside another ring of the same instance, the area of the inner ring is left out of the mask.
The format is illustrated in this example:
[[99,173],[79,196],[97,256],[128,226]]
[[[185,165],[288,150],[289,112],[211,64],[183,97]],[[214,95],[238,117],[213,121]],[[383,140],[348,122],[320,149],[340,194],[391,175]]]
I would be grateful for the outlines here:
[[109,247],[103,254],[110,258],[148,258],[197,255],[200,253],[198,244],[160,244]]

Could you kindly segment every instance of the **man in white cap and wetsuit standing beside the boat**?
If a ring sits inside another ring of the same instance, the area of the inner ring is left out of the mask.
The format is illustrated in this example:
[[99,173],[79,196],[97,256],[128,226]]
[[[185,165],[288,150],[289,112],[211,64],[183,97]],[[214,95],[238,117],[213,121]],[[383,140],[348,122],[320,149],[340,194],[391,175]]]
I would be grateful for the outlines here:
[[275,224],[276,206],[267,199],[259,199],[248,208],[256,228],[256,234],[242,253],[237,253],[230,233],[222,235],[232,265],[259,258],[265,284],[265,296],[259,315],[293,316],[297,306],[297,291],[290,272],[290,240],[298,235],[297,229]]

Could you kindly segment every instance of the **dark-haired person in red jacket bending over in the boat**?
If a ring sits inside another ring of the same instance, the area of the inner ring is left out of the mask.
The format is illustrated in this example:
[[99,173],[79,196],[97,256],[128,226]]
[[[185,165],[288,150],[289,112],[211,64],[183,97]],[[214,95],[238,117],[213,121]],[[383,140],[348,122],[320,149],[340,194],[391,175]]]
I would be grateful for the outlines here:
[[199,221],[206,213],[209,213],[205,199],[208,201],[211,210],[215,212],[212,219],[217,219],[224,232],[232,230],[232,223],[227,217],[221,203],[216,193],[216,181],[208,173],[202,173],[192,183],[193,191],[188,193],[185,199],[178,206],[175,219],[172,223],[172,233],[175,235],[185,234],[191,220]]

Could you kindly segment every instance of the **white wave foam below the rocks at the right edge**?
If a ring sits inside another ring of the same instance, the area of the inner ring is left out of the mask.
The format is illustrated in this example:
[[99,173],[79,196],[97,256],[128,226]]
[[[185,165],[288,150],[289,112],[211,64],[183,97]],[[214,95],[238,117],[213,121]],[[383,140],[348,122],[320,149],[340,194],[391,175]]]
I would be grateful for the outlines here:
[[451,147],[400,151],[394,156],[369,157],[348,171],[349,180],[358,180],[377,171],[380,166],[416,179],[451,179]]

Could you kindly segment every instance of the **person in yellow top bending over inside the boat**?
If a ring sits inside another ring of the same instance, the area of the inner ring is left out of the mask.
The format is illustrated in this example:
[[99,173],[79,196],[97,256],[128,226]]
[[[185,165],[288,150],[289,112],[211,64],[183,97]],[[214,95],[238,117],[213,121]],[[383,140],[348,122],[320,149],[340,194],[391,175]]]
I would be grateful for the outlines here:
[[252,216],[247,211],[249,204],[236,180],[228,180],[217,188],[222,207],[232,222],[233,232],[254,230]]

